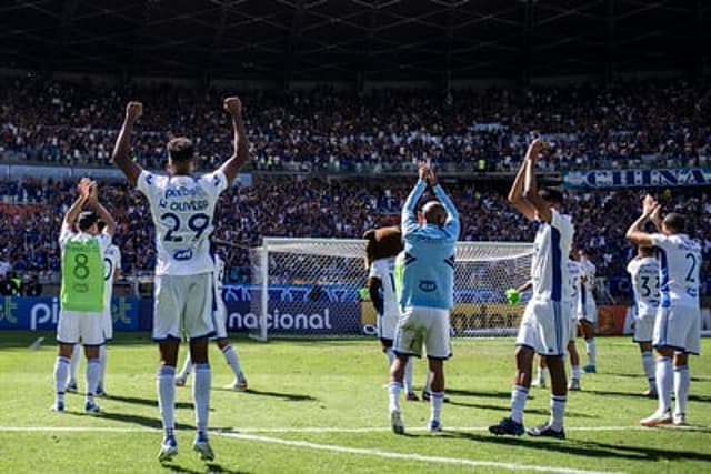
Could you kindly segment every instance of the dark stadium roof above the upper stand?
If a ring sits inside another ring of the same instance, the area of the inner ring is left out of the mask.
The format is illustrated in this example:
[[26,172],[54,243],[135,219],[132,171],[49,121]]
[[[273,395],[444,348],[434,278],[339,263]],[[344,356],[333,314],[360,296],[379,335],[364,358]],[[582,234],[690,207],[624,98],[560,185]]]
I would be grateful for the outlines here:
[[0,64],[277,81],[702,70],[710,3],[9,0]]

